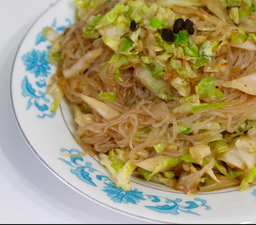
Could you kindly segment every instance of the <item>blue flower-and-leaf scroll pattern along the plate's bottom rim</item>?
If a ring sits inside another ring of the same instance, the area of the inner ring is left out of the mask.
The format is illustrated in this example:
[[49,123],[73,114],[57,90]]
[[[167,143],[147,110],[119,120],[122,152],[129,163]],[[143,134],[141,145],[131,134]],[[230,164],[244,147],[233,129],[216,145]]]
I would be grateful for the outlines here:
[[[164,205],[156,205],[156,206],[144,205],[144,207],[159,213],[170,213],[172,215],[178,215],[180,212],[199,215],[198,213],[191,210],[194,210],[201,206],[205,207],[206,210],[211,209],[210,206],[206,205],[206,201],[200,198],[195,198],[194,200],[196,202],[186,201],[185,204],[187,205],[183,205],[183,204],[179,204],[182,202],[182,199],[180,198],[172,200],[166,197],[147,195],[147,194],[144,194],[142,191],[138,191],[138,189],[136,188],[131,189],[130,191],[124,191],[122,188],[116,187],[116,184],[114,184],[112,180],[108,178],[108,176],[92,168],[92,163],[86,162],[85,166],[81,165],[79,162],[82,162],[83,158],[75,155],[75,154],[82,153],[79,150],[76,150],[76,149],[67,150],[65,148],[62,148],[60,151],[70,154],[69,156],[70,161],[65,160],[63,158],[59,158],[59,159],[74,168],[70,170],[72,174],[75,174],[80,180],[94,187],[98,187],[95,184],[96,180],[103,181],[102,191],[107,193],[107,196],[110,197],[110,199],[113,200],[115,203],[125,203],[125,204],[132,203],[134,205],[138,205],[138,203],[141,203],[142,201],[146,202],[148,200],[153,203],[164,202],[166,203]],[[93,178],[90,176],[94,172],[95,174],[97,174],[96,180],[93,180]]]

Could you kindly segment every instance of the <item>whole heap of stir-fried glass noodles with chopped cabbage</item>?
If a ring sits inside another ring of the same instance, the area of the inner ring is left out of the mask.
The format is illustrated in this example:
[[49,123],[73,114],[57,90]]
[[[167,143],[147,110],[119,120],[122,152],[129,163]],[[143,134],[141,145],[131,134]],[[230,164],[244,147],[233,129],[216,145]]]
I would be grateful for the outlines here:
[[[256,177],[255,0],[74,0],[48,92],[124,191],[131,176],[190,195]],[[81,155],[79,155],[81,156]],[[78,157],[78,155],[72,155]]]

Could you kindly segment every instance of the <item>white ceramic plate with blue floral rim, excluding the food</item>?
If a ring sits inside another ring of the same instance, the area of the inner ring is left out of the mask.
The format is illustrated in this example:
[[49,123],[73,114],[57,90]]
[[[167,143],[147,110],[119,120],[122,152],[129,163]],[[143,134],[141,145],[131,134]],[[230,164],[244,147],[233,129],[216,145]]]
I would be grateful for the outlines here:
[[[56,114],[50,113],[52,98],[46,84],[55,68],[47,59],[50,43],[42,30],[57,32],[74,23],[72,0],[60,0],[48,9],[23,39],[14,61],[11,93],[20,130],[40,161],[60,180],[84,197],[133,217],[158,223],[251,223],[256,221],[256,189],[238,188],[200,193],[189,197],[153,182],[132,178],[132,190],[116,188],[109,172],[97,158],[63,156],[82,152],[72,133],[75,124],[68,105],[62,101]],[[81,196],[82,197],[82,196]]]

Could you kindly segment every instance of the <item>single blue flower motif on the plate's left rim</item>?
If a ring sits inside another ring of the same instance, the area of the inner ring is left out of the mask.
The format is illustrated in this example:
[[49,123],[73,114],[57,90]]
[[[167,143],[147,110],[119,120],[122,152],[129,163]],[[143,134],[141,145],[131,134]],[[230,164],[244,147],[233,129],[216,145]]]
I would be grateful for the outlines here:
[[47,57],[46,51],[40,52],[35,49],[32,49],[31,52],[23,55],[22,60],[26,66],[26,71],[35,73],[36,77],[47,77],[47,74],[49,74],[48,70],[51,69]]

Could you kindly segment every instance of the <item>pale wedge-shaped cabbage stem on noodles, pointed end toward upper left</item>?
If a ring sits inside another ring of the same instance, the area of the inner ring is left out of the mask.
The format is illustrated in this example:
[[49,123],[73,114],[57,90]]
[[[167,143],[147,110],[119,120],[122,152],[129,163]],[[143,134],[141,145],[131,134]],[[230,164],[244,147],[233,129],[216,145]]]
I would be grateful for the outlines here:
[[78,97],[83,99],[86,104],[88,104],[92,109],[94,109],[98,114],[100,114],[100,116],[102,116],[106,120],[111,120],[113,118],[116,118],[117,116],[121,116],[121,113],[101,101],[81,94],[78,94]]

